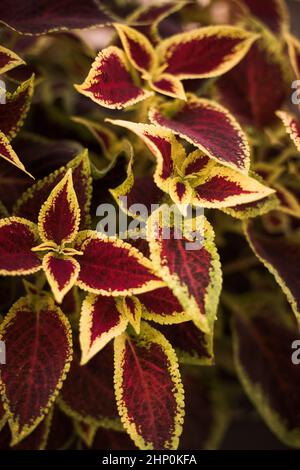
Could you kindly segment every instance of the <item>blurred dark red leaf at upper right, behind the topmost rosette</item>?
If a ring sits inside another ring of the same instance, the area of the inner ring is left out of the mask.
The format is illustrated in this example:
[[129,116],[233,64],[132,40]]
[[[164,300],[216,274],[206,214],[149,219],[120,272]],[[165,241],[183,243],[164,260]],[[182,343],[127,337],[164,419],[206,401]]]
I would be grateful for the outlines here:
[[277,40],[266,32],[217,88],[222,103],[240,122],[265,127],[275,119],[290,89],[290,74]]

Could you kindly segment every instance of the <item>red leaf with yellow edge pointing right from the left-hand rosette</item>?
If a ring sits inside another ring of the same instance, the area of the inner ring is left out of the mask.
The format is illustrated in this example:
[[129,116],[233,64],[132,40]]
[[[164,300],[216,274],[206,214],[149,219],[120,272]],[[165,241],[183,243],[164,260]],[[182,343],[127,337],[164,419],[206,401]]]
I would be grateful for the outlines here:
[[124,296],[164,285],[142,253],[120,239],[86,230],[80,232],[75,256],[80,263],[77,285],[88,292]]

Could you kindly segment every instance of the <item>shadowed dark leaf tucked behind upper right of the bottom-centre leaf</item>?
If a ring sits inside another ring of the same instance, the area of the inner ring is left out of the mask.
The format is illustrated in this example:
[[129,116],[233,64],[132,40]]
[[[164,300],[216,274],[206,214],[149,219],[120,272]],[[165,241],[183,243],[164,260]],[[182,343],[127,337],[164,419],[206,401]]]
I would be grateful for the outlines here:
[[197,366],[213,364],[213,334],[203,333],[191,321],[162,325],[159,330],[172,344],[179,363]]

